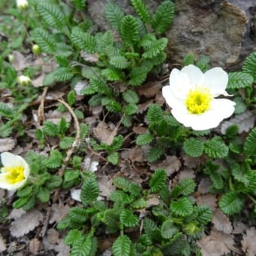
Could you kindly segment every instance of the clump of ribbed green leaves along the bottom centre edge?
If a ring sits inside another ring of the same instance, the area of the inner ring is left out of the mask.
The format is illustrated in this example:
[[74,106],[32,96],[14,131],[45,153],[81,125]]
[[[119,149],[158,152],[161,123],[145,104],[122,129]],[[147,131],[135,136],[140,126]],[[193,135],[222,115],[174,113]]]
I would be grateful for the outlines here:
[[[72,246],[71,255],[95,255],[96,237],[102,232],[120,232],[111,246],[114,256],[146,256],[165,254],[166,251],[172,251],[173,255],[190,255],[199,251],[196,241],[203,236],[212,212],[208,206],[196,206],[190,197],[196,187],[192,179],[184,178],[169,190],[165,170],[157,169],[149,182],[149,191],[142,191],[141,185],[122,177],[115,178],[113,183],[116,190],[111,193],[111,202],[107,205],[97,200],[99,187],[95,175],[84,172],[83,206],[73,207],[57,226],[59,229],[71,228],[65,239],[66,244]],[[160,197],[160,202],[153,206],[151,214],[142,218],[139,212],[151,207],[148,199],[153,194]],[[130,228],[138,231],[141,225],[142,234],[132,242],[125,233]]]

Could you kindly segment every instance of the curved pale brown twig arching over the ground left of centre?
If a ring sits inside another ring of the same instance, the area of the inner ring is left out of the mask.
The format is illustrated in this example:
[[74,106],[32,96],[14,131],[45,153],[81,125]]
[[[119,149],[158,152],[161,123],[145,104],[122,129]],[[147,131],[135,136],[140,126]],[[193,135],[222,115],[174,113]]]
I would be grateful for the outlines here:
[[65,107],[69,110],[69,113],[72,115],[73,119],[75,120],[75,130],[76,130],[76,135],[75,135],[75,141],[72,144],[72,147],[69,148],[69,150],[66,153],[66,157],[63,161],[61,169],[59,169],[59,176],[62,177],[64,170],[66,169],[67,163],[69,163],[69,159],[72,157],[72,154],[75,151],[75,148],[77,148],[79,140],[80,140],[80,135],[81,135],[81,130],[78,122],[78,118],[76,117],[73,109],[69,106],[68,103],[64,102],[62,99],[57,99],[58,102],[62,103],[65,105]]

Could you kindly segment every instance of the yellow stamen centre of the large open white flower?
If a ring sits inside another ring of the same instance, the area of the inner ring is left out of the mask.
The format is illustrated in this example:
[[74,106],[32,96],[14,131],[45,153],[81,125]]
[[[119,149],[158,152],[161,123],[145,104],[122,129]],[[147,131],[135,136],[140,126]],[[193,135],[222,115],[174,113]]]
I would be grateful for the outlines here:
[[187,94],[185,104],[191,114],[202,114],[210,108],[212,94],[207,87],[196,87]]

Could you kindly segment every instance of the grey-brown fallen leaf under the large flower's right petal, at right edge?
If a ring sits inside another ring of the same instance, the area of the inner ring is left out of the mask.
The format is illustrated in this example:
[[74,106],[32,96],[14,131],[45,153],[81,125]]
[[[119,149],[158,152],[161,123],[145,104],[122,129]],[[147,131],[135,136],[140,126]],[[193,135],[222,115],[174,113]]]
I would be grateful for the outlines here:
[[238,132],[248,132],[254,127],[254,122],[256,120],[256,115],[251,111],[246,111],[245,113],[238,114],[230,120],[225,120],[221,123],[221,133],[225,134],[226,130],[231,125],[238,126]]

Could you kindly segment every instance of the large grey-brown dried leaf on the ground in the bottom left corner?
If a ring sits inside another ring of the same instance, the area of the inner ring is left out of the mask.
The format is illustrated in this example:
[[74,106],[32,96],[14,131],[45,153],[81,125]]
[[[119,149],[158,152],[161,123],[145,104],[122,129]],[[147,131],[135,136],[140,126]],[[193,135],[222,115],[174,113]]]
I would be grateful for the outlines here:
[[29,233],[29,231],[34,230],[35,227],[38,227],[43,219],[44,216],[41,212],[36,209],[32,209],[11,223],[11,235],[15,237],[23,236],[26,233]]

